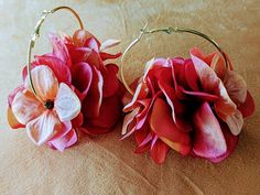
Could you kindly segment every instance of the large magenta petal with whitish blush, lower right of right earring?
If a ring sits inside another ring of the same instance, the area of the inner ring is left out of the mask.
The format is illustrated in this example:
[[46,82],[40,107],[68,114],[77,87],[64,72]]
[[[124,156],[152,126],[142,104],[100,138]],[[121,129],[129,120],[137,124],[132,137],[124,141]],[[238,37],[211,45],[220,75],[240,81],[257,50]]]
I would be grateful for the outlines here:
[[196,155],[215,159],[227,152],[227,144],[219,122],[208,102],[204,102],[193,118],[195,127],[193,151]]

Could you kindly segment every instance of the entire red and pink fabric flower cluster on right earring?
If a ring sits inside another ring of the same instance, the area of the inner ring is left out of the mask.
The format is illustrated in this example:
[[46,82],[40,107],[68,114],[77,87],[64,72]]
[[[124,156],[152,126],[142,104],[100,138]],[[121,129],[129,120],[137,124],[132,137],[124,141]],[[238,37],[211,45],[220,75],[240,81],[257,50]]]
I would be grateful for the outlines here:
[[212,162],[226,159],[243,118],[254,110],[245,80],[226,69],[218,53],[205,56],[193,48],[191,56],[151,59],[123,108],[129,112],[123,138],[134,133],[136,152],[150,150],[156,163],[164,162],[169,149]]

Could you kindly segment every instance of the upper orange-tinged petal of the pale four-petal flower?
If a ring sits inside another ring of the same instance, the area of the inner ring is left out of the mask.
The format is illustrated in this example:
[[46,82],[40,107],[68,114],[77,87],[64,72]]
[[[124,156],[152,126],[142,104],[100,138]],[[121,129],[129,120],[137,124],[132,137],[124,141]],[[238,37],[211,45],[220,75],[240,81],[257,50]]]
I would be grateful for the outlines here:
[[[58,82],[48,66],[36,66],[32,69],[32,80],[37,96],[43,100],[54,100],[58,89]],[[25,79],[25,88],[31,90],[29,76]]]

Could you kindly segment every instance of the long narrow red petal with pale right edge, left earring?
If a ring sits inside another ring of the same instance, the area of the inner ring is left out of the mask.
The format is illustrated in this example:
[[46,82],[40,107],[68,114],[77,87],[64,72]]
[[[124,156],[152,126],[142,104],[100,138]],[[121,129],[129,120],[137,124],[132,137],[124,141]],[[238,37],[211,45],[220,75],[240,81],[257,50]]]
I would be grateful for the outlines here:
[[93,83],[87,97],[83,101],[83,115],[87,118],[99,116],[99,109],[102,102],[104,78],[96,67],[93,67]]

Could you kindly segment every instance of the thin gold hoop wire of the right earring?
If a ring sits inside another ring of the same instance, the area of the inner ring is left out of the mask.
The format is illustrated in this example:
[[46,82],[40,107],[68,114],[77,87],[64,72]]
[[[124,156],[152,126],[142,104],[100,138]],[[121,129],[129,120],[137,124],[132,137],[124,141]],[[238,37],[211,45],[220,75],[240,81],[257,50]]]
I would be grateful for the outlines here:
[[172,33],[189,33],[189,34],[195,34],[197,36],[201,36],[205,40],[207,40],[208,42],[210,42],[217,50],[218,52],[223,55],[224,57],[224,61],[225,61],[225,64],[226,64],[226,68],[228,68],[228,61],[227,61],[227,56],[225,54],[225,52],[221,50],[221,47],[219,46],[219,44],[213,40],[212,37],[209,37],[208,35],[199,32],[199,31],[196,31],[194,29],[186,29],[186,28],[163,28],[163,29],[152,29],[152,30],[147,30],[147,26],[148,26],[148,23],[144,25],[143,29],[141,29],[140,31],[140,34],[139,36],[133,40],[129,46],[124,50],[122,56],[121,56],[121,67],[120,67],[120,76],[121,76],[121,79],[122,79],[122,83],[124,85],[124,87],[127,88],[127,90],[133,95],[134,91],[130,88],[130,86],[128,85],[126,78],[124,78],[124,75],[123,75],[123,65],[124,65],[124,58],[126,58],[126,55],[127,53],[142,39],[142,36],[144,34],[150,34],[150,33],[156,33],[156,32],[164,32],[164,33],[167,33],[167,34],[172,34]]

